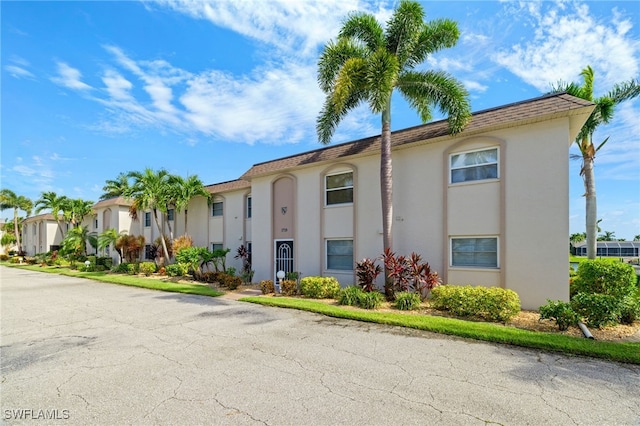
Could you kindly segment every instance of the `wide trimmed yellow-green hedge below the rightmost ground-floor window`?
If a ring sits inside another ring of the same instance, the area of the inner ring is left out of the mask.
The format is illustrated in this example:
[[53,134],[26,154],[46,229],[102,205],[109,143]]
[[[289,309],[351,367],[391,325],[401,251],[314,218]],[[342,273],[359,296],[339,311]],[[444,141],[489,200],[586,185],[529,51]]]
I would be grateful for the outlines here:
[[520,312],[520,298],[509,289],[443,285],[431,290],[431,305],[460,317],[507,322]]

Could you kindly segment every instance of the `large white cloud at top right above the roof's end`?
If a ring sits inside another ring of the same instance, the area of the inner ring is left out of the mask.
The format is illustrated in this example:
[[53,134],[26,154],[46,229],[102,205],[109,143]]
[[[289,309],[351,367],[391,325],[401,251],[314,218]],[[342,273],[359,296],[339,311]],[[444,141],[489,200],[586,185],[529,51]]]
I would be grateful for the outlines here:
[[538,90],[575,81],[587,65],[603,87],[638,75],[640,43],[629,34],[632,22],[619,12],[610,22],[595,18],[586,4],[531,2],[519,10],[525,12],[533,21],[533,39],[502,49],[493,60]]

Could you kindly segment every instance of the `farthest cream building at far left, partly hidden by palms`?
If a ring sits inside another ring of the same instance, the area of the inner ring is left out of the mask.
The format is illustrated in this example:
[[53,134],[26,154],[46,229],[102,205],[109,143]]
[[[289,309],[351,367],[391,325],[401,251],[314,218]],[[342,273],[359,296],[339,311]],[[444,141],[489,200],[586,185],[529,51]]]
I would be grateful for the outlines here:
[[22,250],[27,256],[58,250],[69,224],[62,216],[59,223],[50,213],[31,216],[22,221]]

